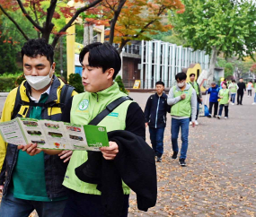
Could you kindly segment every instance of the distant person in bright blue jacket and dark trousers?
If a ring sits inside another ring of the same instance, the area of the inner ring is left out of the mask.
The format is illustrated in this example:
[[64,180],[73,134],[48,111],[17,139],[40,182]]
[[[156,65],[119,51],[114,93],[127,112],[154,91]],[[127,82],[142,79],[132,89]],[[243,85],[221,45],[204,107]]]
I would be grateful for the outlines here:
[[220,88],[216,84],[216,82],[211,83],[211,87],[207,89],[206,93],[210,94],[210,99],[209,99],[209,115],[208,117],[212,117],[212,109],[214,107],[214,116],[216,117],[217,115],[217,109],[218,109],[218,91]]

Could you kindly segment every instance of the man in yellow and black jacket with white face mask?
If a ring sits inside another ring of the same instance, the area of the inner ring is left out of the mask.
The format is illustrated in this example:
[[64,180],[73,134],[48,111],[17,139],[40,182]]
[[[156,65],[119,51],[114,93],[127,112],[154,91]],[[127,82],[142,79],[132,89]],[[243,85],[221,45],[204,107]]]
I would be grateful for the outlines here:
[[[65,101],[76,92],[54,75],[53,56],[54,49],[44,39],[31,39],[24,44],[22,64],[26,81],[9,93],[1,122],[14,117],[61,120]],[[7,145],[0,136],[0,169],[6,156],[7,171],[0,216],[29,216],[33,210],[40,216],[62,216],[67,198],[62,186],[64,161],[70,159],[72,152],[49,154],[54,152],[46,150],[30,156],[16,145]]]

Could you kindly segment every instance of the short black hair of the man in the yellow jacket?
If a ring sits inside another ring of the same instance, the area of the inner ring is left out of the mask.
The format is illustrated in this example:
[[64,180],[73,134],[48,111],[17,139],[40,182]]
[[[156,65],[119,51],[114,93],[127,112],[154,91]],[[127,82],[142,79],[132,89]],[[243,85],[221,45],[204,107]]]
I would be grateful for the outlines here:
[[29,39],[22,47],[22,61],[23,56],[36,58],[38,55],[46,56],[50,65],[53,64],[54,48],[49,45],[45,39]]

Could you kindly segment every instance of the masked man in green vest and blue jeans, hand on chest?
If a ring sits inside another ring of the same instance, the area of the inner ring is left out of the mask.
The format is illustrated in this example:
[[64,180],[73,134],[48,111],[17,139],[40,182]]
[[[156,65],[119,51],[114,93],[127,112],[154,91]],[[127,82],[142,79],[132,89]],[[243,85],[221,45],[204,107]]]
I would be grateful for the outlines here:
[[186,83],[187,74],[179,73],[176,74],[175,80],[177,85],[173,86],[169,91],[168,105],[172,106],[172,159],[177,159],[179,146],[178,146],[178,135],[181,127],[181,167],[186,166],[187,151],[189,145],[189,126],[190,116],[192,126],[195,126],[196,114],[197,114],[197,92],[193,87]]

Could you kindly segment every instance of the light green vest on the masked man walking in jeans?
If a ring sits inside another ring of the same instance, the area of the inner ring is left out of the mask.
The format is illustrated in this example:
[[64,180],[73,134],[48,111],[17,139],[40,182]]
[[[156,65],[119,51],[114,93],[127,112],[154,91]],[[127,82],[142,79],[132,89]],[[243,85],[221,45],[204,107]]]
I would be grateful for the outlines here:
[[178,117],[190,117],[191,115],[191,96],[193,93],[193,88],[190,86],[189,90],[179,91],[177,87],[173,87],[173,96],[174,98],[180,97],[181,94],[185,93],[186,98],[184,100],[180,100],[176,104],[172,106],[171,116]]

